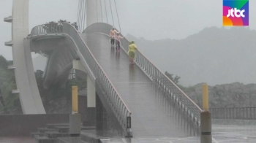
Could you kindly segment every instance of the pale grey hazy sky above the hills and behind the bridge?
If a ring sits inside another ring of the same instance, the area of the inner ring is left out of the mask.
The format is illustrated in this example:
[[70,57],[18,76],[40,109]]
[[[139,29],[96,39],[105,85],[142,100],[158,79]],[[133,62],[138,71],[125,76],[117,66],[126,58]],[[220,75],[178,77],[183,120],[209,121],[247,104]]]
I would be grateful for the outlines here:
[[[205,27],[222,26],[222,0],[116,0],[116,4],[122,32],[146,39],[183,39]],[[52,20],[74,22],[77,9],[78,0],[30,0],[30,29]],[[9,15],[12,0],[0,0],[0,55],[12,59],[11,47],[4,46],[11,39],[11,24],[3,21]],[[252,0],[249,25],[256,30],[256,1]]]

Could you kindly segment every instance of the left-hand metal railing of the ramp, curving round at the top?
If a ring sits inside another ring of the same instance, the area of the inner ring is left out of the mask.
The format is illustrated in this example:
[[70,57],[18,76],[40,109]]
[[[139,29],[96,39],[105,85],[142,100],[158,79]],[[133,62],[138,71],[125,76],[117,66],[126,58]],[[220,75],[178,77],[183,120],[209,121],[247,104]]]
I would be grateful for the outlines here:
[[82,55],[80,60],[89,66],[89,70],[91,71],[91,74],[93,74],[94,80],[96,80],[96,82],[103,88],[102,90],[104,90],[103,92],[105,93],[105,98],[107,99],[108,104],[116,115],[116,118],[124,131],[126,131],[127,120],[131,117],[132,112],[130,112],[121,96],[119,96],[116,88],[114,88],[102,67],[99,66],[99,63],[94,58],[94,55],[92,55],[86,43],[83,42],[78,31],[69,23],[44,24],[36,26],[31,30],[31,36],[48,34],[64,34],[74,41],[77,46],[77,52]]

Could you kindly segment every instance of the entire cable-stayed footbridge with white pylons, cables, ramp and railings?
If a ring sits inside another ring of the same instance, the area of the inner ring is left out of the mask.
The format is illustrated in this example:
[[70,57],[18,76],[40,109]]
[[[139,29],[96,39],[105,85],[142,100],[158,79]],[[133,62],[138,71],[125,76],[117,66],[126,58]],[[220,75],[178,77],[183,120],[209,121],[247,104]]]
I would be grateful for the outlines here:
[[[31,61],[31,52],[37,52],[48,57],[45,88],[64,87],[71,69],[86,72],[87,105],[95,111],[97,129],[114,128],[118,134],[135,137],[197,135],[202,109],[140,50],[135,65],[130,65],[129,39],[121,39],[120,53],[111,49],[116,1],[80,0],[78,4],[78,29],[64,22],[47,23],[29,33],[29,0],[13,1],[12,17],[6,18],[12,23],[13,39],[6,45],[12,46],[10,69],[15,70],[17,82],[12,93],[19,94],[23,113],[45,114]],[[119,19],[118,27],[121,31]]]

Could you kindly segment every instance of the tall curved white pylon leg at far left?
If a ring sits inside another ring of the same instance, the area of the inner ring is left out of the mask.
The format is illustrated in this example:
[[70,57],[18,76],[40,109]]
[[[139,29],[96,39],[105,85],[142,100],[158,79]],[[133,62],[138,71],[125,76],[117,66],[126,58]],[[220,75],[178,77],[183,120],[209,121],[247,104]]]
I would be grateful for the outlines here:
[[29,0],[13,0],[12,18],[12,57],[23,114],[45,114],[34,75],[30,42],[24,40],[29,34]]

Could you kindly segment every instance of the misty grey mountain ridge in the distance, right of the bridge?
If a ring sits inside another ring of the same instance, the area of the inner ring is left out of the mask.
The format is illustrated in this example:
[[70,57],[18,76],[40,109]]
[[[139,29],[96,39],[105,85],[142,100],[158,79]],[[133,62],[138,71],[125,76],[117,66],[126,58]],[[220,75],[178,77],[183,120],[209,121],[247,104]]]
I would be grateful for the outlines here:
[[249,28],[204,28],[180,40],[127,38],[159,69],[178,74],[181,85],[256,83],[256,31]]

